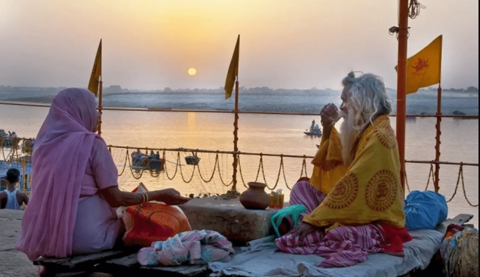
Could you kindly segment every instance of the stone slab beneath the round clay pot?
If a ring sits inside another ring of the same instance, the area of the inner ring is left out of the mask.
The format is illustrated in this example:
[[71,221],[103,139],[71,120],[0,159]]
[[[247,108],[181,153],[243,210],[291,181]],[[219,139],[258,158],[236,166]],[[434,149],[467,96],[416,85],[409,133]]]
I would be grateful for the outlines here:
[[274,234],[270,218],[278,209],[249,210],[238,198],[193,198],[179,205],[193,230],[214,230],[232,242],[248,242]]

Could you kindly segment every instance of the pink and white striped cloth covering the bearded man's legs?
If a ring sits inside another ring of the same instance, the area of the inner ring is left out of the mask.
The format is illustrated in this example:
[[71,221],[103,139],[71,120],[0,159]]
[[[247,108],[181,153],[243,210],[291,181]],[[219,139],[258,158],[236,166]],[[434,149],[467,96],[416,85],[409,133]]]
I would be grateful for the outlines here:
[[[290,204],[305,205],[307,207],[305,214],[308,214],[324,198],[322,192],[308,182],[302,181],[293,187]],[[382,235],[373,224],[340,226],[330,230],[326,235],[320,231],[313,232],[302,241],[299,241],[298,236],[292,235],[275,240],[275,244],[283,252],[324,257],[325,260],[317,265],[321,268],[349,267],[361,263],[366,260],[368,254],[379,252],[382,242]]]

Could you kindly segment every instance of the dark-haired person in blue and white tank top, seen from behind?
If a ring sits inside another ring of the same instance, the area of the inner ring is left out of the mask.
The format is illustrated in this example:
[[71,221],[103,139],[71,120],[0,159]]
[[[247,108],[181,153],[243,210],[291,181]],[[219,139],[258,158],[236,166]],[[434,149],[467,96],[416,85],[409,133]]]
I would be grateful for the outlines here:
[[6,189],[0,191],[0,208],[19,210],[23,203],[28,204],[28,196],[25,192],[15,188],[20,180],[20,171],[11,168],[6,172]]

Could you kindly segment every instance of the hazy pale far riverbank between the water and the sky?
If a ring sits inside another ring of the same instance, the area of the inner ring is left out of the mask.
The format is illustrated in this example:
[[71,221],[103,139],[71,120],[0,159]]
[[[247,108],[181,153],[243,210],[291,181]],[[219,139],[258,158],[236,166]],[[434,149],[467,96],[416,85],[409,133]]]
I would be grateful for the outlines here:
[[[445,91],[449,92],[449,91]],[[138,93],[138,92],[136,92]],[[233,100],[224,100],[224,97],[217,97],[215,93],[205,92],[189,92],[188,97],[185,92],[177,93],[158,93],[158,92],[144,92],[145,98],[136,96],[136,93],[106,93],[103,101],[103,106],[107,108],[120,109],[145,109],[145,110],[217,110],[229,111],[233,109]],[[433,93],[433,92],[431,92]],[[155,95],[157,94],[157,95]],[[166,95],[170,94],[170,95]],[[434,93],[436,94],[436,93]],[[442,95],[442,113],[445,115],[453,114],[455,111],[465,112],[467,115],[478,115],[478,92],[471,92],[473,97],[465,95],[466,93],[448,93]],[[464,94],[461,96],[460,94]],[[118,96],[120,95],[120,96]],[[308,95],[295,95],[295,93],[282,93],[278,97],[272,97],[271,93],[241,94],[240,110],[243,112],[300,112],[300,113],[317,113],[319,105],[323,105],[330,101],[338,99],[333,98],[334,93],[324,97],[323,95],[316,95],[309,93]],[[1,97],[3,96],[3,97]],[[6,97],[5,97],[6,96]],[[11,98],[7,98],[10,96]],[[55,97],[54,94],[35,95],[22,97],[21,94],[0,94],[0,102],[4,104],[14,105],[36,105],[48,107]],[[409,94],[407,98],[407,114],[434,114],[436,111],[436,95],[429,95],[429,93],[421,92]],[[328,99],[328,97],[330,97]],[[392,97],[392,95],[390,95]],[[3,99],[1,99],[3,98]],[[141,100],[145,99],[145,100]],[[393,107],[395,107],[395,99],[392,99]],[[395,111],[393,111],[395,113]]]

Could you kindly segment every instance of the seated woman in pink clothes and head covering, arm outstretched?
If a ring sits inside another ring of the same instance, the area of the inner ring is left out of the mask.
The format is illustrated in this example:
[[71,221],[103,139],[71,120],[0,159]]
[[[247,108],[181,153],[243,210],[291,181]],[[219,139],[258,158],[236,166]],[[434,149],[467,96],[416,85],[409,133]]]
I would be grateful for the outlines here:
[[54,97],[38,132],[31,196],[15,248],[30,260],[113,248],[124,232],[119,206],[148,200],[176,205],[190,199],[173,188],[121,191],[112,155],[96,134],[96,106],[92,92],[65,89]]

